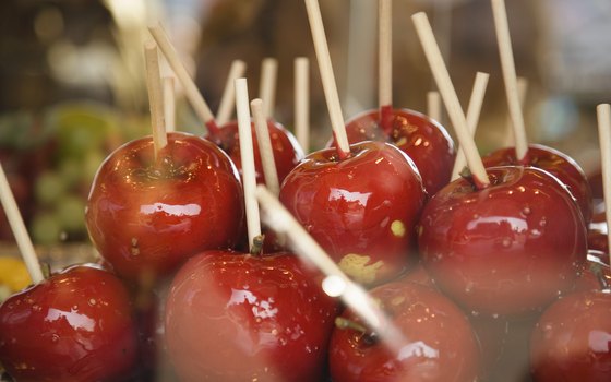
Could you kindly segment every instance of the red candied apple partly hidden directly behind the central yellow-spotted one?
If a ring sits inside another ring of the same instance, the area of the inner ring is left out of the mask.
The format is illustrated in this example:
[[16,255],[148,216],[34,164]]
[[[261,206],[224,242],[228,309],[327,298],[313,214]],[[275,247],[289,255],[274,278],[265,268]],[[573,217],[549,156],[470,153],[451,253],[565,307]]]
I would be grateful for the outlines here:
[[363,111],[346,122],[348,142],[388,142],[405,152],[416,164],[430,195],[450,182],[456,152],[452,138],[438,121],[410,109],[388,109],[385,126],[380,111]]

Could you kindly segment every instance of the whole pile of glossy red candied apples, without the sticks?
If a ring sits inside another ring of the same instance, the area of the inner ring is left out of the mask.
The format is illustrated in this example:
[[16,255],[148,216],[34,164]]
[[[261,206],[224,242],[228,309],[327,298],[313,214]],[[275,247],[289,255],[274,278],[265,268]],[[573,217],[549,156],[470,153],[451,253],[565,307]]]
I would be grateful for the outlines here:
[[450,181],[444,128],[411,110],[386,118],[386,129],[375,112],[349,121],[345,157],[302,157],[286,129],[272,134],[279,200],[369,289],[400,349],[287,248],[242,250],[229,124],[225,141],[169,133],[159,153],[143,138],[106,158],[85,214],[103,262],[0,306],[3,367],[36,381],[145,380],[166,358],[183,381],[494,380],[522,325],[520,367],[536,381],[608,375],[610,324],[596,312],[611,309],[610,272],[587,265],[589,247],[607,252],[589,246],[591,194],[574,160],[532,145],[518,164],[504,150],[484,157],[490,186]]

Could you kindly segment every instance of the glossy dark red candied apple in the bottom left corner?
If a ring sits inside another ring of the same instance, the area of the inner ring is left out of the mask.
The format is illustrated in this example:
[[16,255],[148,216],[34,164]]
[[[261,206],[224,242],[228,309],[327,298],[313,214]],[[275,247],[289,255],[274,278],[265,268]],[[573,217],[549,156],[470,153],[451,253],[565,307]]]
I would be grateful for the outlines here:
[[17,381],[123,381],[137,359],[123,284],[74,265],[0,306],[0,362]]

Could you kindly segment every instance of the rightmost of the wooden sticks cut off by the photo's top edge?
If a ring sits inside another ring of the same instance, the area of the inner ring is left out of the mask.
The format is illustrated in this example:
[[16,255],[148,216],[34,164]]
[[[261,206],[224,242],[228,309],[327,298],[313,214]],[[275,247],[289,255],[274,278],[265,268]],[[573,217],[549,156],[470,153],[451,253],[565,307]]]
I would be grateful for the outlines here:
[[503,81],[505,82],[505,93],[510,118],[514,132],[516,158],[519,162],[527,162],[528,140],[526,139],[526,128],[524,126],[524,115],[519,102],[517,89],[517,77],[515,72],[514,53],[512,50],[512,39],[510,36],[510,25],[504,0],[491,0],[492,14],[494,16],[494,28],[499,44],[499,55],[501,57],[501,69],[503,70]]

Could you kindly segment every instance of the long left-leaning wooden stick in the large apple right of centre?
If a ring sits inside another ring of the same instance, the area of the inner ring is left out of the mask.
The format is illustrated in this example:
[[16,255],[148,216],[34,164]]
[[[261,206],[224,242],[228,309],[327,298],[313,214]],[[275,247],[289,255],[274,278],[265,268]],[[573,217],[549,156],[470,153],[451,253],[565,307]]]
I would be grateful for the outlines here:
[[454,126],[454,130],[458,138],[460,148],[465,152],[467,157],[467,165],[474,177],[474,182],[478,189],[486,188],[490,184],[488,179],[488,174],[486,174],[486,168],[481,157],[479,156],[478,150],[469,133],[469,128],[467,127],[467,120],[460,103],[458,102],[458,96],[450,79],[450,73],[441,56],[441,51],[435,41],[431,24],[427,14],[423,12],[416,13],[411,16],[414,24],[416,26],[416,32],[424,49],[427,60],[431,67],[431,71],[435,79],[438,88],[440,89],[441,96],[445,104],[445,108]]

